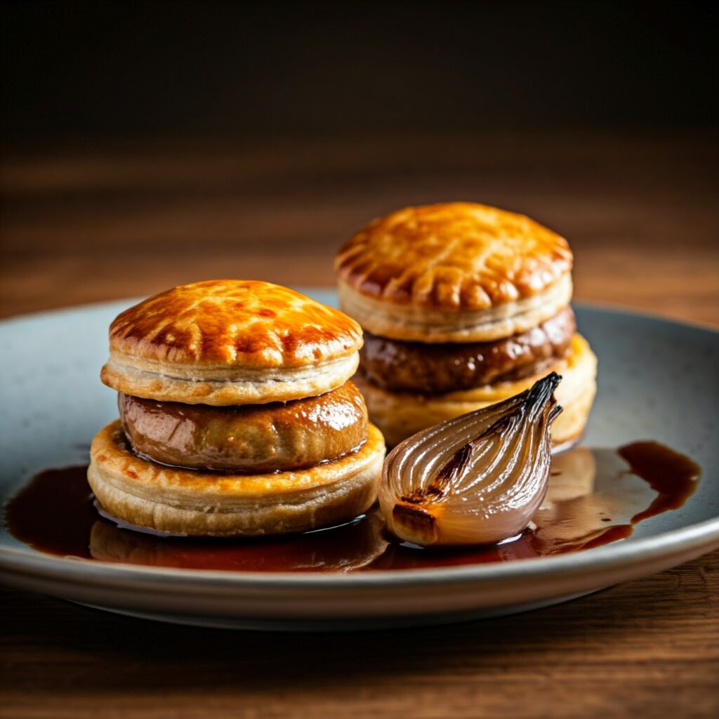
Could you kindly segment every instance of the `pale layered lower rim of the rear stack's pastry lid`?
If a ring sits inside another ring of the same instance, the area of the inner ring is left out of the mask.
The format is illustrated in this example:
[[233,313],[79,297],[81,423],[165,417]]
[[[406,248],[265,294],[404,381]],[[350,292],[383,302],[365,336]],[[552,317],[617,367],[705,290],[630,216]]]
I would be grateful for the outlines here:
[[572,275],[536,295],[480,311],[443,311],[378,300],[338,280],[339,305],[372,334],[406,342],[490,342],[525,332],[572,299]]

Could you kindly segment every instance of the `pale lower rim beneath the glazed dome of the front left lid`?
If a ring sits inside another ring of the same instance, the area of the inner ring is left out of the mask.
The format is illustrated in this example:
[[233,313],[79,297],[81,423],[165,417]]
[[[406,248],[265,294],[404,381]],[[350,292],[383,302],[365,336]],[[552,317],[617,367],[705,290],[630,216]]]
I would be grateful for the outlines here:
[[359,352],[306,367],[188,367],[112,352],[101,380],[118,392],[161,402],[213,406],[287,402],[321,395],[354,375]]

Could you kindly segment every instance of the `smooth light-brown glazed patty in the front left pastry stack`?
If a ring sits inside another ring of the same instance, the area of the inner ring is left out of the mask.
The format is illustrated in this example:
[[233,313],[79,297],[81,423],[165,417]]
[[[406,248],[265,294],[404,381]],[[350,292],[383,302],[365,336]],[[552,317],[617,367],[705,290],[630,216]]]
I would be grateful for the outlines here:
[[211,407],[119,394],[134,452],[190,469],[261,474],[300,470],[353,452],[367,439],[367,408],[351,382],[288,403]]

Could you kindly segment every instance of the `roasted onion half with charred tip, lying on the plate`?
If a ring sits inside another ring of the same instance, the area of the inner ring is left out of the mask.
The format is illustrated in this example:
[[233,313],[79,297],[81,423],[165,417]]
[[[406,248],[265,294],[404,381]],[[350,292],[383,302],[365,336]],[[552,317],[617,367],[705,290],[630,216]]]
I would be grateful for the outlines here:
[[380,482],[390,530],[423,546],[493,544],[521,533],[546,494],[561,379],[552,372],[398,444]]

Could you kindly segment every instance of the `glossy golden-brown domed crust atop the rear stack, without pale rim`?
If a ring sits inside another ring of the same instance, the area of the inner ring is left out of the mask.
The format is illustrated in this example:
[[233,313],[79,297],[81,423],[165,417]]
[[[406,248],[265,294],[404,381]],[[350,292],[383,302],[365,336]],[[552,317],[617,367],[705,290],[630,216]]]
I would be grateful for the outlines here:
[[482,311],[554,285],[572,270],[572,251],[528,217],[451,202],[375,219],[339,250],[335,270],[378,301]]

